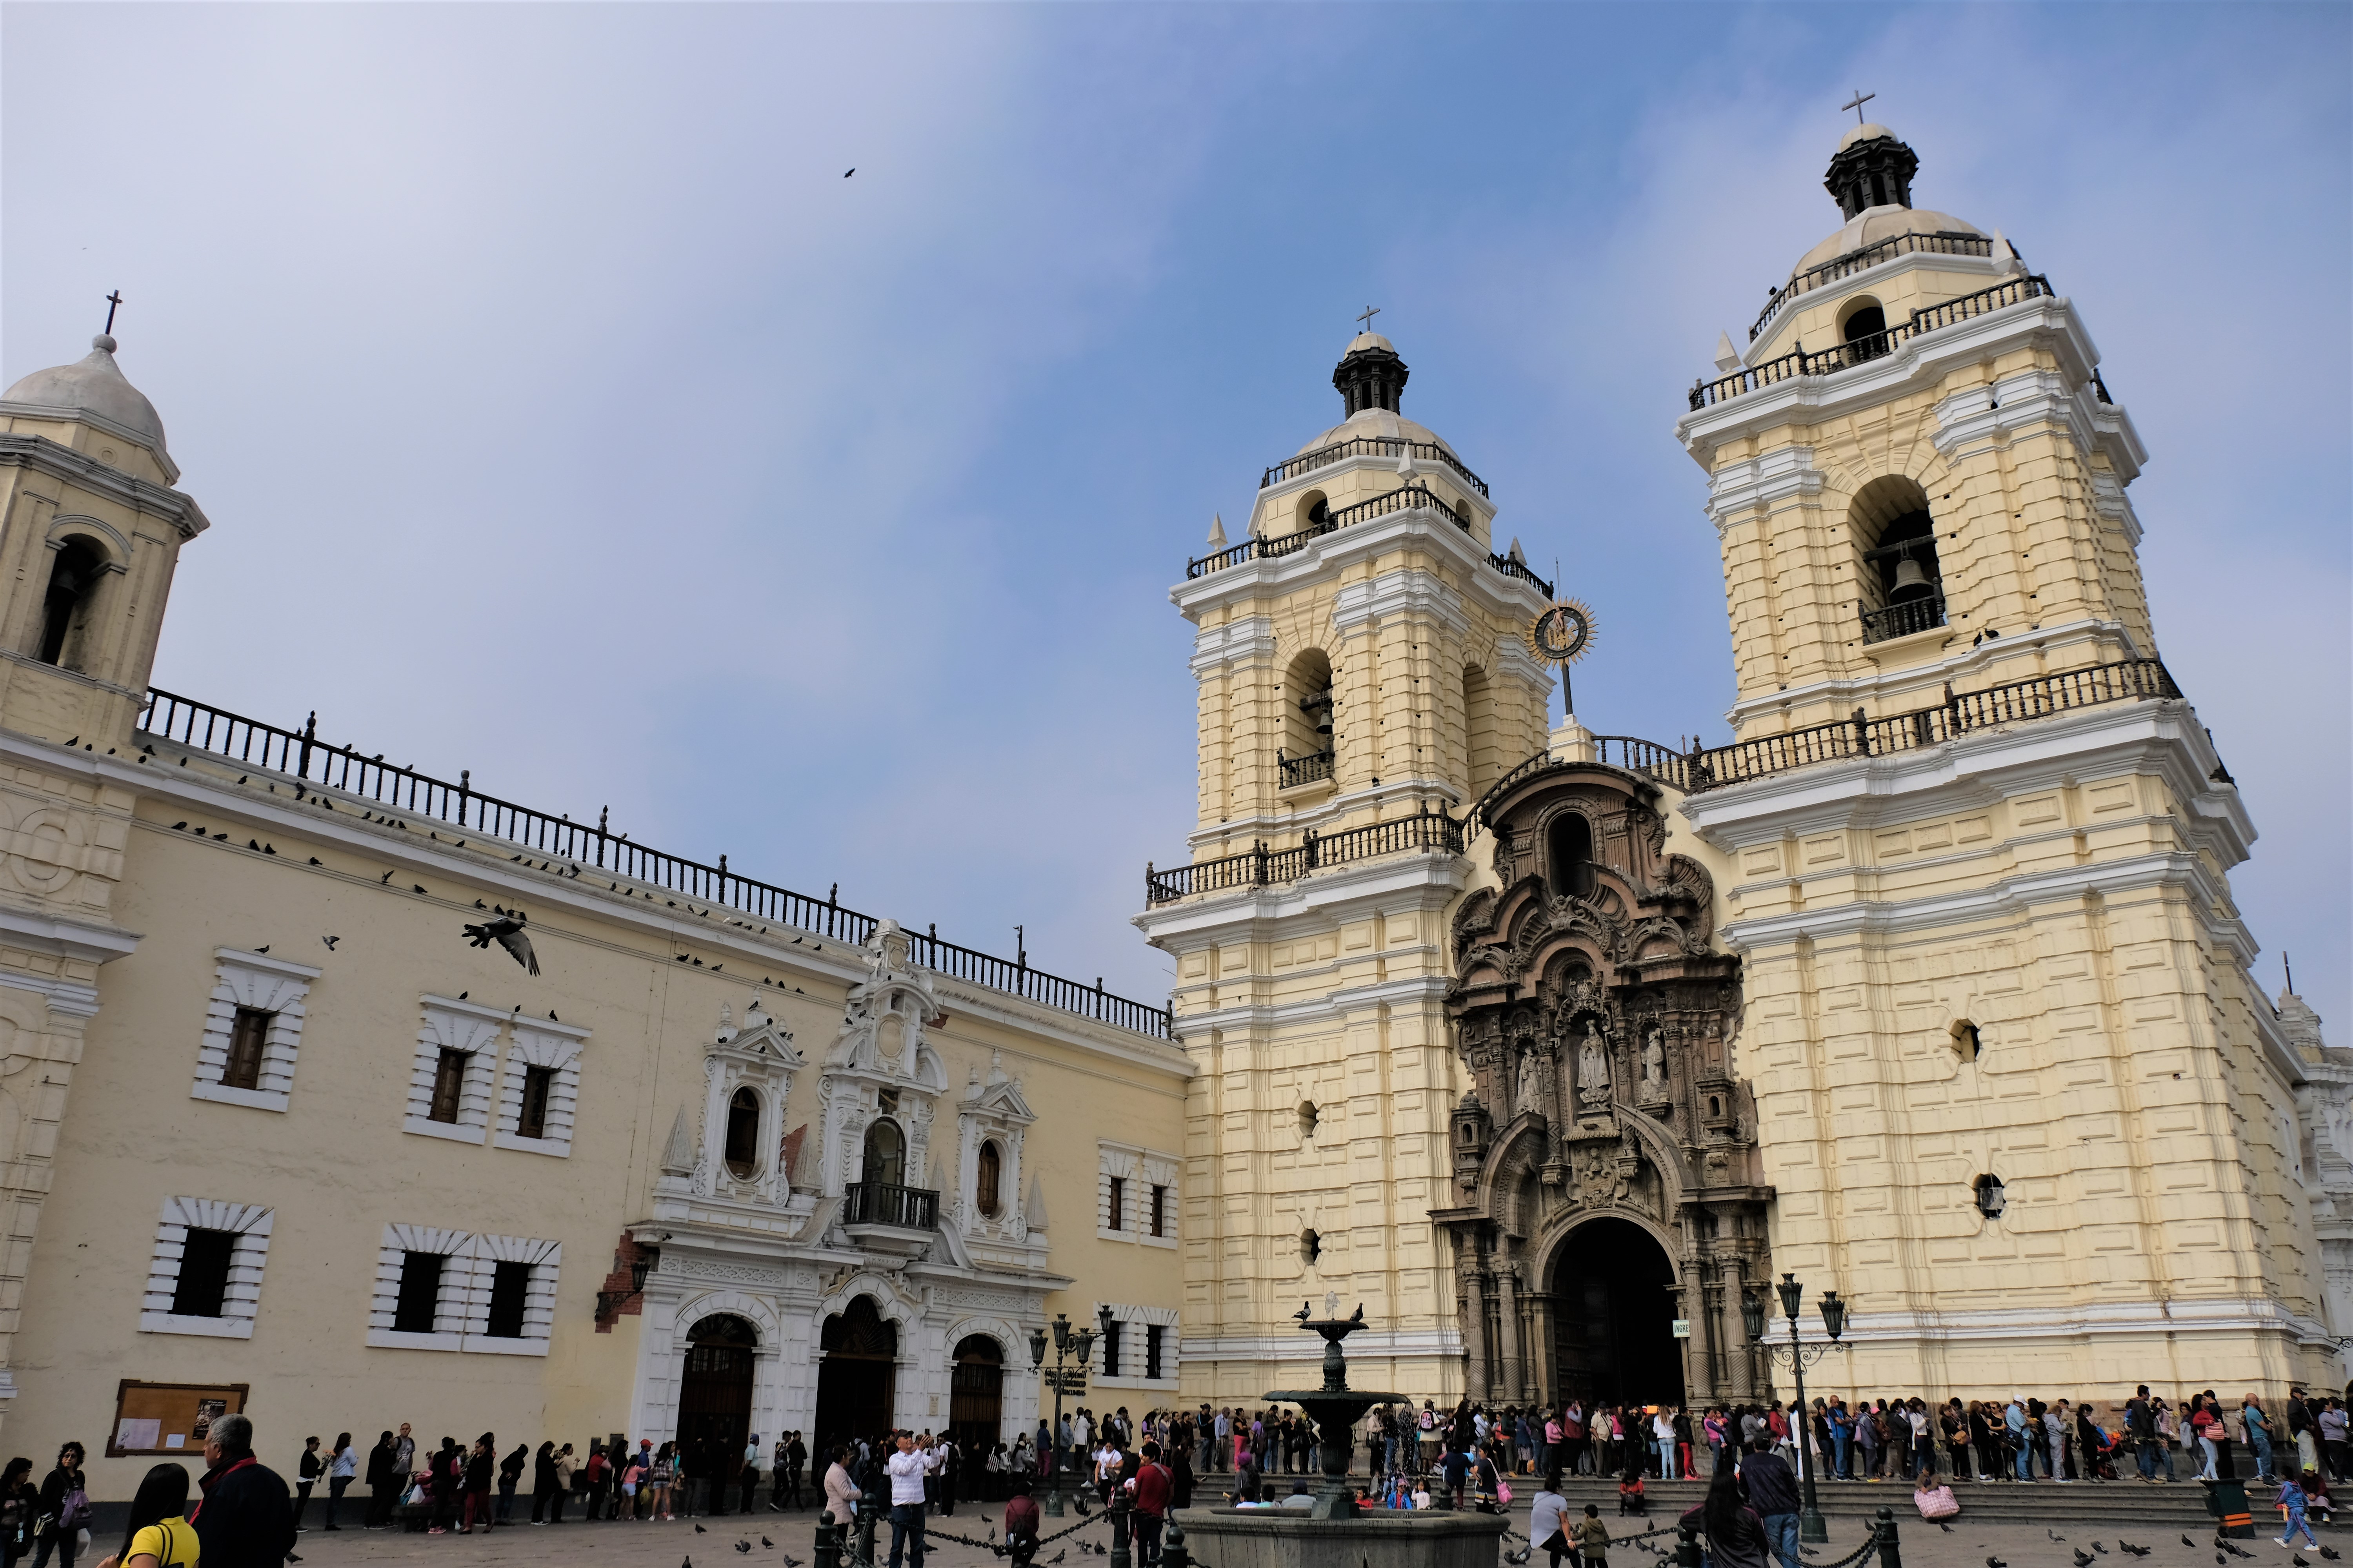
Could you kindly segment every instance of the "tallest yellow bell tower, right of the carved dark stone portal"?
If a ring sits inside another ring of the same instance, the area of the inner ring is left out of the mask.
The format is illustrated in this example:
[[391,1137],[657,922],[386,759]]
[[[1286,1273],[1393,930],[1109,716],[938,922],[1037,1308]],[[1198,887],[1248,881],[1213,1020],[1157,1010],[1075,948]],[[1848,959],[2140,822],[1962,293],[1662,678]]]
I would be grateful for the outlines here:
[[1734,865],[1774,1267],[1852,1302],[1854,1392],[2278,1387],[2325,1333],[2304,1070],[2158,658],[2146,451],[2075,303],[1915,172],[1845,134],[1845,223],[1678,423],[1739,677],[1680,811]]

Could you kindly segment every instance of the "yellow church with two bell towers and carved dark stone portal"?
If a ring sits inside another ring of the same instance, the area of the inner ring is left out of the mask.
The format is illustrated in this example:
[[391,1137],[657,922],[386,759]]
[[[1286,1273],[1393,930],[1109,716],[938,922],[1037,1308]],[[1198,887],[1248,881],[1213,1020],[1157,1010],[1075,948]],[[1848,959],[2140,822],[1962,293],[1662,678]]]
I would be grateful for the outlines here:
[[1744,1305],[1779,1324],[1788,1274],[1809,1338],[1847,1305],[1819,1392],[2344,1375],[2346,1086],[2247,973],[2254,825],[2148,618],[2146,451],[2075,301],[1915,172],[1845,136],[1845,223],[1675,425],[1729,745],[1546,731],[1553,585],[1384,339],[1172,592],[1195,860],[1136,924],[1200,1070],[1212,1399],[1294,1375],[1264,1326],[1325,1288],[1384,1387],[1762,1394]]

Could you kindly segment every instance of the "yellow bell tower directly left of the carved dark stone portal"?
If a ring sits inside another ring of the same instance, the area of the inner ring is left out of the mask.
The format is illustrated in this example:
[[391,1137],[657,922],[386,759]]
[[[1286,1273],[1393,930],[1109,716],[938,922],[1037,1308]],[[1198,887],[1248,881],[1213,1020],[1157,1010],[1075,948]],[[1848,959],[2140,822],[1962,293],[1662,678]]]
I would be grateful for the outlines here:
[[1186,1105],[1186,1385],[1257,1399],[1301,1298],[1365,1302],[1360,1382],[1461,1387],[1447,1201],[1447,926],[1464,813],[1546,745],[1551,597],[1497,550],[1497,508],[1405,418],[1407,367],[1360,334],[1346,418],[1259,480],[1240,543],[1172,590],[1193,623],[1191,865],[1148,870],[1153,945],[1202,1067]]

